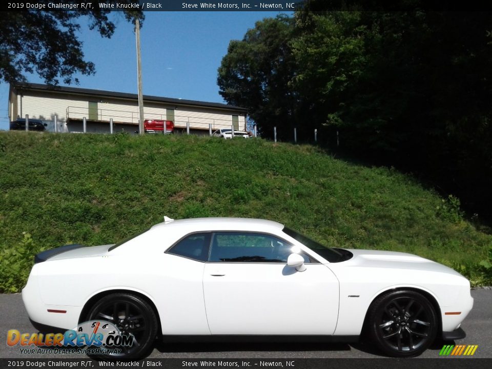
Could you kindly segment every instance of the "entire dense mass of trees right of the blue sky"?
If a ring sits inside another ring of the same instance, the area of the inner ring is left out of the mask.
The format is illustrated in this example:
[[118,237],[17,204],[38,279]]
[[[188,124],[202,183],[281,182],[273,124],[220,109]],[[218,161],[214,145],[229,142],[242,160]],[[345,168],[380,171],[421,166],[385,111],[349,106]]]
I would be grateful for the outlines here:
[[[492,13],[322,11],[330,3],[308,1],[231,42],[222,96],[249,108],[264,137],[277,126],[312,139],[317,128],[332,149],[423,174],[492,215]],[[281,48],[266,42],[276,34]],[[249,51],[240,64],[237,50]],[[253,83],[270,75],[282,83]]]

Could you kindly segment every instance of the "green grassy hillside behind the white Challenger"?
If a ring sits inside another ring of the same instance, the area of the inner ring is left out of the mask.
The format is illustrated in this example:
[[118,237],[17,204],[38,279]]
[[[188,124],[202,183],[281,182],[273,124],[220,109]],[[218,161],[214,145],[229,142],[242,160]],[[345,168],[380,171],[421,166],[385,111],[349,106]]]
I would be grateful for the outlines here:
[[411,176],[312,146],[197,136],[0,133],[0,291],[32,255],[114,243],[172,218],[277,220],[326,245],[405,251],[490,284],[492,237]]

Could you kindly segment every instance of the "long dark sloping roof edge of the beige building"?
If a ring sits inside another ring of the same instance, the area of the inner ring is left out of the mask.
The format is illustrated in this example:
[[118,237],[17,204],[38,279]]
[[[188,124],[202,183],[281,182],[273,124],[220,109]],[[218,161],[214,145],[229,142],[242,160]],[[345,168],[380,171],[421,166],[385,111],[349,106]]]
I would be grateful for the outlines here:
[[[52,85],[43,85],[43,84],[34,84],[34,83],[16,84],[12,87],[14,90],[62,92],[62,93],[69,93],[69,94],[81,94],[81,95],[98,96],[98,97],[115,97],[121,99],[138,100],[137,94],[131,94],[126,92],[105,91],[105,90],[83,89],[78,87],[52,86]],[[144,100],[155,101],[158,103],[168,103],[173,105],[188,105],[188,106],[199,106],[205,108],[235,110],[243,113],[247,112],[248,110],[246,108],[241,108],[234,105],[227,105],[221,103],[207,103],[206,101],[185,100],[185,99],[172,98],[172,97],[144,95]]]

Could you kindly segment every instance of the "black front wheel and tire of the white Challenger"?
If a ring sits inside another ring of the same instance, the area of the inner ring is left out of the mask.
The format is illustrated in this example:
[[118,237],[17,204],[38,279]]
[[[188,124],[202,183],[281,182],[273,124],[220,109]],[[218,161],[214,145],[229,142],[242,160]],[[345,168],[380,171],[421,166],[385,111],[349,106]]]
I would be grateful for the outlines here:
[[434,306],[415,291],[394,291],[377,298],[369,310],[369,334],[386,355],[413,357],[436,339]]

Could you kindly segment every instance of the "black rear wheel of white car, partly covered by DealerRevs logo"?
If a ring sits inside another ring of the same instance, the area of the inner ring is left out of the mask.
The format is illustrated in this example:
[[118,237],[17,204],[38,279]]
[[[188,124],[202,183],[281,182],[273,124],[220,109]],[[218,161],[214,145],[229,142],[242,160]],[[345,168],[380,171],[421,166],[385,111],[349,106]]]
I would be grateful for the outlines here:
[[113,323],[122,335],[133,336],[131,346],[119,346],[121,352],[97,354],[104,359],[135,359],[145,357],[154,345],[157,335],[157,317],[147,301],[128,293],[115,293],[97,301],[87,321],[105,320]]

